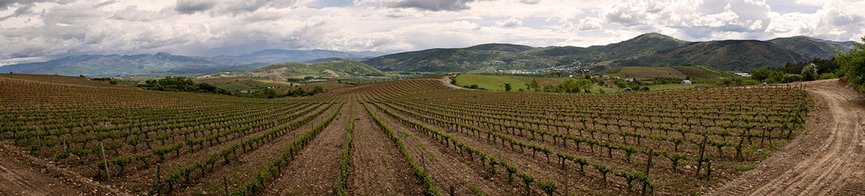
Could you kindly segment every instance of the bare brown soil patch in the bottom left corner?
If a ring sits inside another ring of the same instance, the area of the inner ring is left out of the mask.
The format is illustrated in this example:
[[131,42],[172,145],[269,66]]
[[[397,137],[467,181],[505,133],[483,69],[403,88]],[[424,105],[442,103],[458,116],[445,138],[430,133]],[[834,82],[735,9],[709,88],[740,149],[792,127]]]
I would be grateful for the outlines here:
[[0,144],[0,195],[124,195]]

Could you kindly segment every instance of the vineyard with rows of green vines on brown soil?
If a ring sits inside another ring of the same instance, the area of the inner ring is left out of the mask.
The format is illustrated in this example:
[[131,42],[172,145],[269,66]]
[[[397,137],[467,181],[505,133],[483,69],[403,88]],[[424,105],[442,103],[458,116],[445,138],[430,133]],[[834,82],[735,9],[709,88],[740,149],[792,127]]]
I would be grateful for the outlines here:
[[689,195],[804,130],[788,86],[612,94],[439,78],[256,99],[0,78],[6,145],[131,194]]

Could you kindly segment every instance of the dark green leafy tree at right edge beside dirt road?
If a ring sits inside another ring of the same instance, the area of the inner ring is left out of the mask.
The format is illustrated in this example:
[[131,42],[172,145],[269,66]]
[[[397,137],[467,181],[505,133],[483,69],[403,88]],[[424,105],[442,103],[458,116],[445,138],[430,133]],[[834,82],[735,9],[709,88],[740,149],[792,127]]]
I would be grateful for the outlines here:
[[[865,41],[865,37],[862,37]],[[865,44],[853,43],[853,48],[843,54],[837,54],[835,60],[841,66],[839,72],[856,90],[865,92]]]

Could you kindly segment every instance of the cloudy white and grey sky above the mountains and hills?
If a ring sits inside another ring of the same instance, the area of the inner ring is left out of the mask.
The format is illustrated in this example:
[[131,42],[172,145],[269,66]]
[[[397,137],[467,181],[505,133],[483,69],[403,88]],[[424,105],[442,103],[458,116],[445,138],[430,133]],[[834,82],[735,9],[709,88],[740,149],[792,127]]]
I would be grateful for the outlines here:
[[403,52],[865,36],[862,0],[0,0],[0,65],[77,54]]

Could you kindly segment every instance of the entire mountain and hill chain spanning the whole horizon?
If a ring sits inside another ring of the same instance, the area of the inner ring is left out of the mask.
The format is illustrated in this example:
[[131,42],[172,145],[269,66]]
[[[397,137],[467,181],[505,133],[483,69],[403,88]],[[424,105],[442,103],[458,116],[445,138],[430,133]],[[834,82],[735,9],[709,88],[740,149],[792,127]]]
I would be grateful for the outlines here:
[[0,73],[77,76],[198,74],[252,70],[285,62],[360,61],[381,71],[468,72],[494,70],[606,70],[623,66],[687,64],[747,71],[814,58],[830,59],[849,51],[853,41],[825,41],[805,36],[769,41],[681,41],[660,34],[592,47],[529,47],[490,43],[464,48],[433,48],[399,54],[330,50],[266,49],[236,56],[196,57],[158,54],[77,55],[47,62],[0,66]]

